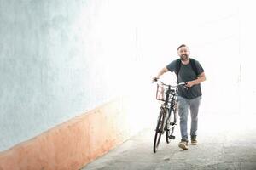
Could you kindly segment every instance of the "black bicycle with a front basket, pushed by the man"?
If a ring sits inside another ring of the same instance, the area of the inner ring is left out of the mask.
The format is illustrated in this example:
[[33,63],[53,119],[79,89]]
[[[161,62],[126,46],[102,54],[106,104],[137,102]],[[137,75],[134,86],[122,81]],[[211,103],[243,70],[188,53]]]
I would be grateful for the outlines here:
[[161,82],[159,79],[154,80],[157,83],[156,99],[163,101],[160,106],[160,114],[157,119],[157,124],[154,134],[154,153],[160,144],[161,135],[166,131],[166,143],[169,144],[171,139],[175,139],[174,128],[177,125],[177,89],[178,86],[187,88],[185,82],[177,83],[176,85],[168,85]]

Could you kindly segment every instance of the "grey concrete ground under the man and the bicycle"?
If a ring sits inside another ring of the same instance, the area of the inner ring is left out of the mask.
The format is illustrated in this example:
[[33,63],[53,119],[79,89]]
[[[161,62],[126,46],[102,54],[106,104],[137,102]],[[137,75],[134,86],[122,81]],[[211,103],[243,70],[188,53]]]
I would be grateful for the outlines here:
[[180,134],[177,127],[177,139],[166,144],[163,138],[155,154],[154,127],[148,127],[82,170],[255,170],[255,120],[255,115],[200,116],[197,145],[189,144],[189,150],[179,149],[177,144]]

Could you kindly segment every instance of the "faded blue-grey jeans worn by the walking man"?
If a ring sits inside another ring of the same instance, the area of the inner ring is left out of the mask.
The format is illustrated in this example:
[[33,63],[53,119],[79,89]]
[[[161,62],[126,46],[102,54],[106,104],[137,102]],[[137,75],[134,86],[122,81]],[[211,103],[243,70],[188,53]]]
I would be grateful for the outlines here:
[[188,114],[190,109],[191,115],[191,128],[190,136],[197,136],[198,126],[198,110],[201,101],[201,96],[195,99],[185,99],[177,96],[178,115],[180,117],[180,133],[182,141],[188,141]]

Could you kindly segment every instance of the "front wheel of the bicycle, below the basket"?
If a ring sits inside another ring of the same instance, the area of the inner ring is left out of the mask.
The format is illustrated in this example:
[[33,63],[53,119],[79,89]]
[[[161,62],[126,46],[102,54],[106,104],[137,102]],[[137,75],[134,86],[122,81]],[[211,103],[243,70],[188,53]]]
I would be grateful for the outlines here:
[[160,111],[159,117],[158,117],[158,121],[157,121],[157,125],[155,128],[155,134],[154,134],[154,147],[153,147],[153,151],[154,153],[156,152],[156,150],[158,149],[158,146],[160,144],[160,139],[161,139],[161,135],[162,135],[162,131],[164,130],[163,126],[163,122],[165,120],[163,111]]

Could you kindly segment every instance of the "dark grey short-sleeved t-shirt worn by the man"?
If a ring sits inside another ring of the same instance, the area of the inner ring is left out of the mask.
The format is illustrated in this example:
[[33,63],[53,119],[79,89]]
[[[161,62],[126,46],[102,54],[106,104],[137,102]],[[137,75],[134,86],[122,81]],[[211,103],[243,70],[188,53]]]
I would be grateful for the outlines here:
[[[166,66],[167,69],[172,72],[176,71],[176,62],[177,60],[172,61],[169,65]],[[188,65],[183,65],[181,63],[180,70],[178,72],[177,82],[189,82],[195,80],[197,76],[199,76],[204,71],[201,64],[197,60],[195,60],[195,67],[198,71],[198,75],[196,75],[195,71],[193,70],[191,62],[189,62]],[[178,95],[186,99],[195,99],[201,96],[201,85],[196,84],[188,89],[179,87]]]

